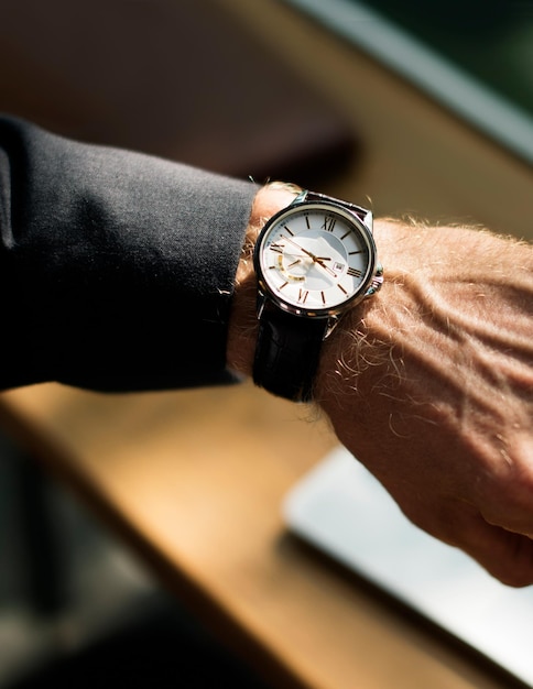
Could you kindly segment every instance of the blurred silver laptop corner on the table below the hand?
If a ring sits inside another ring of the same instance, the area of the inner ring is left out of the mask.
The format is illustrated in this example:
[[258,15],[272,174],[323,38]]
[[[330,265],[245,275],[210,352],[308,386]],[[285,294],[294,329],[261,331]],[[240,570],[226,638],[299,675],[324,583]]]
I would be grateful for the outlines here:
[[533,687],[533,587],[499,583],[413,526],[342,447],[290,492],[292,532]]

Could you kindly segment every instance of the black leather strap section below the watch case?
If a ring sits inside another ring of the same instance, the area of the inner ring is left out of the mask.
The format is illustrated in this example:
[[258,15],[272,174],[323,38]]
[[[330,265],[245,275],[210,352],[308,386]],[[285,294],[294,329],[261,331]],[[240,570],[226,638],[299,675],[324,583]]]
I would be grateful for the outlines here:
[[301,318],[268,303],[259,320],[254,383],[274,395],[311,402],[327,326],[327,318]]

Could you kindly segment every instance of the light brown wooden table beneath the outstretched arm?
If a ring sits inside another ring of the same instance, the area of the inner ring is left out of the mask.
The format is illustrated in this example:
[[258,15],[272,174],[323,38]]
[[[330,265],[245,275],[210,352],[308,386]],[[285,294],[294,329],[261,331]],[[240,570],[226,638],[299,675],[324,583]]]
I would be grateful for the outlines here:
[[[532,236],[525,165],[286,7],[220,2],[361,134],[362,162],[326,190],[370,197],[378,215]],[[509,687],[287,534],[283,496],[335,444],[306,414],[249,384],[118,396],[50,384],[0,396],[4,429],[275,686]]]

